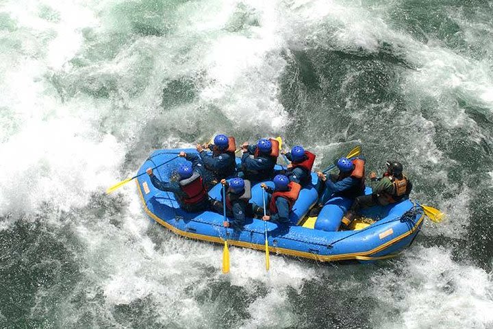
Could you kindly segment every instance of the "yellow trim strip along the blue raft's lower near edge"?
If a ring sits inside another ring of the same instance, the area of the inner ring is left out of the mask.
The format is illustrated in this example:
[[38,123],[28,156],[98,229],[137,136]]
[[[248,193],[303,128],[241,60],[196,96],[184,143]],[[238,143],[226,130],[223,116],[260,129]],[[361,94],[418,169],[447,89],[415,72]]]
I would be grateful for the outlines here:
[[[174,232],[176,234],[179,234],[181,236],[185,236],[190,239],[195,239],[195,240],[202,240],[202,241],[208,241],[208,242],[214,242],[214,243],[220,243],[223,244],[224,240],[220,239],[219,237],[216,236],[208,236],[208,235],[203,235],[203,234],[197,234],[197,233],[190,233],[186,231],[179,230],[175,228],[175,226],[170,225],[169,223],[166,223],[166,221],[163,221],[159,217],[157,217],[149,208],[147,208],[147,204],[144,200],[144,195],[142,195],[142,190],[140,188],[140,184],[138,180],[136,180],[137,186],[138,186],[138,191],[140,195],[140,200],[142,201],[142,205],[144,206],[144,211],[157,221],[157,223],[160,223],[162,226],[170,230],[171,232]],[[377,256],[377,257],[372,257],[370,255],[372,254],[377,254],[378,252],[381,252],[383,249],[386,247],[389,247],[393,243],[396,243],[402,239],[404,239],[406,236],[412,234],[420,223],[423,221],[425,218],[425,215],[422,215],[420,219],[416,222],[416,225],[412,228],[412,230],[409,230],[405,232],[404,234],[401,234],[400,236],[396,236],[394,239],[387,241],[386,243],[383,243],[382,245],[379,245],[378,247],[371,249],[368,252],[354,252],[354,253],[349,253],[349,254],[338,254],[338,255],[318,255],[318,254],[312,254],[309,252],[299,252],[297,250],[292,250],[292,249],[286,249],[286,248],[279,248],[279,247],[273,247],[269,246],[270,251],[273,251],[277,254],[283,254],[283,255],[289,255],[289,256],[295,256],[295,257],[303,257],[303,258],[309,258],[313,260],[318,260],[319,262],[331,262],[331,261],[337,261],[337,260],[350,260],[350,259],[356,259],[356,260],[378,260],[378,259],[385,259],[385,258],[391,258],[396,256],[396,254],[390,254],[390,255],[385,255],[385,256]],[[257,249],[257,250],[265,250],[265,245],[257,245],[255,243],[247,243],[243,241],[237,241],[237,240],[227,240],[229,245],[236,245],[238,247],[245,247],[245,248],[250,248],[250,249]]]

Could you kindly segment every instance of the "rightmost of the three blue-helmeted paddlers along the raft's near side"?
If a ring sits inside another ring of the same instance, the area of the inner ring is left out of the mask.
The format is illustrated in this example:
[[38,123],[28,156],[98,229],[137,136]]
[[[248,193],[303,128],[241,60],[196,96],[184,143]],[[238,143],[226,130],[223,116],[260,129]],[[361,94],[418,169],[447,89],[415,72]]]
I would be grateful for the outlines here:
[[279,224],[289,224],[289,213],[296,199],[298,199],[301,185],[290,182],[285,175],[276,175],[275,189],[262,183],[262,188],[268,193],[268,214],[262,217],[264,221],[275,221]]

